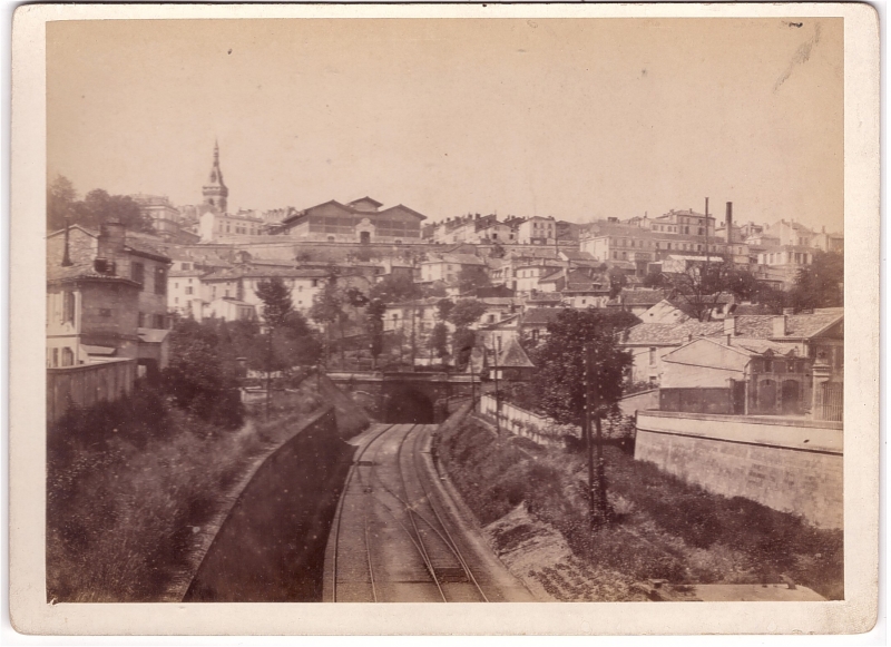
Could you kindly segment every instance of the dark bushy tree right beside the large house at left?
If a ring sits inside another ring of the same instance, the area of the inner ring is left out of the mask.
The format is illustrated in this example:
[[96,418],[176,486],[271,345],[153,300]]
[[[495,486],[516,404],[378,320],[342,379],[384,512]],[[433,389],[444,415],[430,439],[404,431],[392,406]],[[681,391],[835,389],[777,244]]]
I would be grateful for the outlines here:
[[236,375],[223,363],[214,325],[182,318],[169,341],[170,359],[161,380],[174,403],[223,429],[238,427],[244,411]]

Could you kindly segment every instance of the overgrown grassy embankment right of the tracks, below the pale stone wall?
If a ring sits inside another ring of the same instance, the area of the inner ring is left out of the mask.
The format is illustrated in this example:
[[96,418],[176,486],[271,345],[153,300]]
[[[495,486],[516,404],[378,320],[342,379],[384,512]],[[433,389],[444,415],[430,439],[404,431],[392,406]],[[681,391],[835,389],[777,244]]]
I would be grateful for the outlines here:
[[[584,454],[497,437],[473,418],[444,432],[439,454],[481,525],[525,503],[532,519],[557,529],[591,580],[608,581],[613,599],[631,599],[635,581],[673,584],[776,582],[786,575],[830,599],[843,597],[840,530],[821,530],[800,517],[754,501],[712,494],[652,463],[607,447],[606,476],[616,521],[591,533]],[[522,527],[510,533],[522,535]],[[508,533],[506,533],[508,535]],[[518,537],[496,537],[496,549]],[[552,569],[546,569],[552,570]],[[557,576],[558,574],[551,574]],[[551,590],[548,572],[535,574]],[[596,599],[596,586],[581,586]],[[576,598],[578,599],[578,598]]]

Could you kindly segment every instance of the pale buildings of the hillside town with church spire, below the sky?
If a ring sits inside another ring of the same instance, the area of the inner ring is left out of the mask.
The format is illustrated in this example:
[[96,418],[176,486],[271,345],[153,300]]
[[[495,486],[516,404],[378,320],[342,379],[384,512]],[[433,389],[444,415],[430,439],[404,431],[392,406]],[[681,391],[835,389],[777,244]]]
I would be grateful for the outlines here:
[[[261,300],[254,288],[270,277],[286,282],[294,308],[312,324],[310,310],[334,275],[342,288],[365,295],[378,285],[376,296],[386,304],[384,330],[411,337],[413,364],[431,361],[419,349],[427,347],[438,323],[434,306],[441,298],[481,303],[479,318],[469,325],[499,347],[508,337],[537,337],[560,308],[596,307],[638,315],[645,325],[628,343],[662,351],[666,340],[644,332],[653,324],[693,318],[707,326],[733,312],[782,315],[794,305],[782,295],[794,290],[800,271],[844,245],[841,234],[814,232],[794,218],[741,222],[731,203],[718,217],[708,198],[702,212],[668,208],[584,224],[478,213],[429,222],[409,206],[384,206],[369,196],[231,213],[216,146],[200,194],[200,204],[178,206],[164,196],[130,196],[150,224],[144,231],[127,231],[112,217],[99,227],[75,220],[50,232],[48,278],[56,287],[49,304],[61,321],[74,302],[66,301],[71,297],[59,282],[79,272],[101,276],[107,290],[127,282],[140,288],[133,312],[100,307],[111,314],[96,330],[85,322],[75,326],[77,335],[53,336],[49,366],[138,356],[161,369],[173,317],[257,321]],[[709,295],[696,293],[696,286],[685,290],[688,275],[713,265],[737,272],[743,288],[723,285]],[[402,290],[388,295],[382,286]],[[360,318],[347,322],[350,335],[361,333]],[[655,383],[657,375],[636,366],[634,380]]]

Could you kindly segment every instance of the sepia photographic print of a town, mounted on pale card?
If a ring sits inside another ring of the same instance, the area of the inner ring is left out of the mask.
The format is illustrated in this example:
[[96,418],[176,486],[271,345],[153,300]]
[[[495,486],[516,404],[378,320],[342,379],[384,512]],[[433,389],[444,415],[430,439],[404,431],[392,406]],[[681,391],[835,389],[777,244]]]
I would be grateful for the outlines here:
[[850,600],[846,20],[47,18],[46,606]]

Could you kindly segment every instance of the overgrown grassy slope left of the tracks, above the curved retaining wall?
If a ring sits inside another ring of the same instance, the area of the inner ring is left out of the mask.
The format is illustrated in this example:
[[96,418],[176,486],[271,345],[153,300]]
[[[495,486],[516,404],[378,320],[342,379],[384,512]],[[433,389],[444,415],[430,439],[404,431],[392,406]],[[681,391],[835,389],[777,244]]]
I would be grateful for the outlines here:
[[232,490],[321,403],[310,379],[234,431],[147,389],[70,412],[48,432],[48,600],[170,599]]

